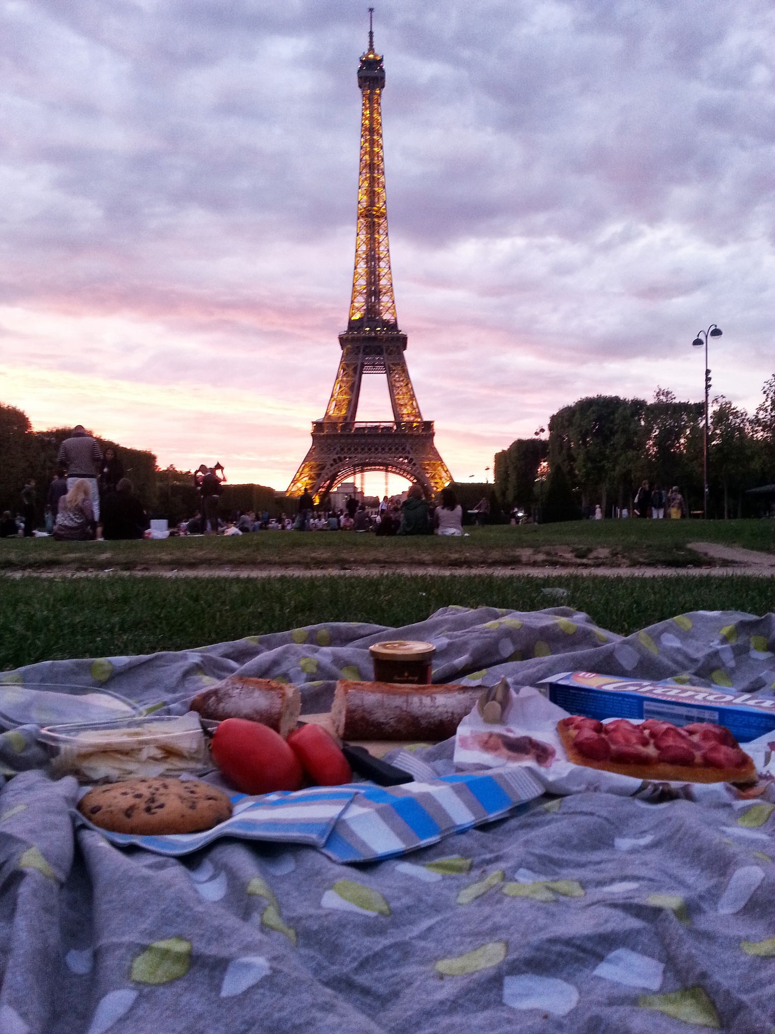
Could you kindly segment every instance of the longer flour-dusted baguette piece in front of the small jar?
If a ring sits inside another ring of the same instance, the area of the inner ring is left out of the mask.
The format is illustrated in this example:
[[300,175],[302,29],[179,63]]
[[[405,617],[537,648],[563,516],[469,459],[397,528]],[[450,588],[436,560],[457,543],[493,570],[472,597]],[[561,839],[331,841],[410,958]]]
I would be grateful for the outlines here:
[[481,693],[468,686],[339,681],[331,718],[340,739],[439,741],[455,735]]

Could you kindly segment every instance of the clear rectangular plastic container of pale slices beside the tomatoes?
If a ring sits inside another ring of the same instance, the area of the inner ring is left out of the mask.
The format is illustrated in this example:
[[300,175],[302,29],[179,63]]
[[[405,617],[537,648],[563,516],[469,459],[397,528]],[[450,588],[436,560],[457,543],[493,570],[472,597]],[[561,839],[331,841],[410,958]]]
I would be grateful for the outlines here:
[[197,774],[213,767],[195,711],[54,725],[41,729],[38,739],[51,749],[52,774],[74,776],[81,783]]

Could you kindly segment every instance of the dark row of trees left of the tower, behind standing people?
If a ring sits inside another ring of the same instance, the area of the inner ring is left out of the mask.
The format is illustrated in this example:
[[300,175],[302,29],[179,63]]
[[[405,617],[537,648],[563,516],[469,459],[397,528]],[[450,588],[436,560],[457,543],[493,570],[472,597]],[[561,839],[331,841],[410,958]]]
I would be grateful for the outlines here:
[[[72,429],[59,427],[50,431],[33,431],[27,415],[12,405],[0,402],[0,513],[21,511],[22,489],[30,479],[36,486],[36,519],[42,523],[49,485],[57,468],[57,453]],[[154,517],[166,517],[172,523],[188,519],[199,508],[199,498],[191,470],[174,466],[160,469],[156,456],[142,449],[129,449],[109,438],[95,435],[99,447],[116,450],[124,474],[132,482],[143,506]],[[266,485],[224,485],[219,511],[228,516],[235,510],[268,510],[276,517],[291,504],[276,496]],[[296,507],[296,503],[292,504]],[[288,511],[290,512],[290,511]]]

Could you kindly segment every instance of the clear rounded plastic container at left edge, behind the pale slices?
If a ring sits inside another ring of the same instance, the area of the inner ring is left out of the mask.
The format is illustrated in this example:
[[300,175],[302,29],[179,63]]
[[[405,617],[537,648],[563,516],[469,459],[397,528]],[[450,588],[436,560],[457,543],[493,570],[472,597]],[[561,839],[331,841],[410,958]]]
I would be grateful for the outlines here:
[[141,711],[140,704],[110,690],[91,686],[66,686],[35,682],[21,686],[0,685],[0,726],[59,725],[63,722],[110,722],[130,718]]

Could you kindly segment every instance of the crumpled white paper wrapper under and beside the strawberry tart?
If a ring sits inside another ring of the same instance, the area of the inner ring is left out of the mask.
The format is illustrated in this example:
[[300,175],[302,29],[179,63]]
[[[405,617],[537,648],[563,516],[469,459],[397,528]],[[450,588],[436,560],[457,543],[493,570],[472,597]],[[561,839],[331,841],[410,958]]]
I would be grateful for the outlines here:
[[[567,760],[557,732],[557,723],[567,717],[566,710],[553,704],[533,687],[524,687],[519,694],[512,690],[505,724],[488,725],[483,722],[476,707],[463,719],[455,737],[455,762],[487,765],[490,768],[525,765],[540,780],[549,793],[560,795],[590,790],[615,793],[623,797],[637,793],[644,786],[643,780],[575,765]],[[636,719],[633,724],[638,723],[639,720]],[[527,737],[535,746],[530,744]],[[768,741],[775,742],[775,733],[769,732],[741,747],[753,758],[760,774],[775,776],[775,761]],[[553,749],[553,755],[546,750],[547,746]],[[694,799],[702,797],[709,802],[718,798],[729,802],[729,793],[723,783],[655,782],[672,787],[690,785]]]

